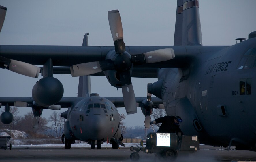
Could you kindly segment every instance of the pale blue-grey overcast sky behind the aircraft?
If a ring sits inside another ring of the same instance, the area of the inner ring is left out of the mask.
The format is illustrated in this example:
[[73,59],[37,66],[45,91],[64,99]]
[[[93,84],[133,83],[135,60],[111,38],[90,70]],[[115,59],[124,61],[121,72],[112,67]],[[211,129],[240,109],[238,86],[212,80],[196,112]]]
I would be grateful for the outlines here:
[[[83,35],[89,33],[89,45],[114,45],[109,24],[110,10],[121,15],[126,45],[173,45],[175,0],[81,0],[34,1],[0,0],[7,7],[0,33],[0,45],[82,45]],[[200,0],[203,45],[234,45],[236,38],[248,38],[256,30],[255,0]],[[31,78],[0,69],[0,97],[31,97],[34,84],[42,78]],[[78,77],[54,74],[64,86],[63,97],[76,97]],[[146,97],[146,85],[156,78],[132,78],[136,97]],[[102,97],[121,97],[122,90],[109,84],[106,77],[91,77],[92,92]],[[3,108],[0,108],[3,110]],[[20,108],[24,115],[31,108]],[[65,109],[62,109],[65,111]],[[144,116],[126,115],[127,126],[143,126]],[[48,119],[52,110],[44,110]],[[182,116],[182,115],[180,115]]]

